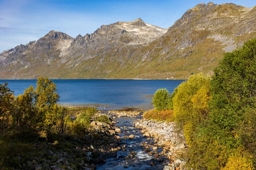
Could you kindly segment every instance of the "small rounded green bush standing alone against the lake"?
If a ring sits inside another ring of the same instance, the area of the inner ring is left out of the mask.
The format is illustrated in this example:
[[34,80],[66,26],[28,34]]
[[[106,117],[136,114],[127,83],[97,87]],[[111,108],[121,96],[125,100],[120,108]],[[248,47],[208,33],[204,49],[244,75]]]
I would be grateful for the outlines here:
[[169,91],[166,88],[158,89],[153,96],[152,102],[158,111],[166,110],[169,102]]

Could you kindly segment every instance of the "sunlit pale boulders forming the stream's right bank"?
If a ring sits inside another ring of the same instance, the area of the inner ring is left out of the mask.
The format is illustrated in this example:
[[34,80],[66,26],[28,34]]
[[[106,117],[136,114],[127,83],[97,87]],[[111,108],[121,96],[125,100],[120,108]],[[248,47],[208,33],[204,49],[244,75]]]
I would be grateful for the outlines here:
[[182,159],[182,155],[183,151],[186,150],[186,144],[180,142],[183,140],[183,135],[175,133],[175,124],[173,122],[140,119],[134,124],[135,128],[142,129],[143,136],[150,141],[143,143],[143,147],[153,147],[154,150],[163,148],[160,155],[167,156],[171,160],[171,164],[166,165],[164,170],[183,169],[183,165],[186,162]]

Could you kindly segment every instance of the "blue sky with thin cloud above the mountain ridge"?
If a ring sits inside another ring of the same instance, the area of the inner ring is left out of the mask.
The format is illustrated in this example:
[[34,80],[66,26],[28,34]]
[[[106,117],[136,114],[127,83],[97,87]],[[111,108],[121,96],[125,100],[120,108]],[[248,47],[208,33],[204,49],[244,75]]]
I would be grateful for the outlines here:
[[[255,0],[212,2],[256,6]],[[0,52],[38,40],[51,30],[76,37],[137,18],[168,28],[198,3],[209,0],[0,0]]]

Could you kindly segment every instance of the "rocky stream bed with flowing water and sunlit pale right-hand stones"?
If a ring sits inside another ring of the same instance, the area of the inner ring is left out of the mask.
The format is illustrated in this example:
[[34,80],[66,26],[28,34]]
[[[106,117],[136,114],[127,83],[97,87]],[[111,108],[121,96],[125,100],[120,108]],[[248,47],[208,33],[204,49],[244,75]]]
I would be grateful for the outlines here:
[[186,145],[179,142],[182,136],[174,133],[173,123],[143,120],[140,111],[105,114],[117,122],[114,128],[122,149],[97,169],[179,170],[186,164],[180,159]]

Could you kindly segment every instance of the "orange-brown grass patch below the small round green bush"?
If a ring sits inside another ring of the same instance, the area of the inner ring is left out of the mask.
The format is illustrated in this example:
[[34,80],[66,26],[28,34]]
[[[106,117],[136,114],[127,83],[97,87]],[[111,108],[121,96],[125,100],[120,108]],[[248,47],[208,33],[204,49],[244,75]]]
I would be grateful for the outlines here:
[[156,109],[143,113],[144,119],[154,119],[157,121],[173,122],[174,116],[172,110],[157,111]]

